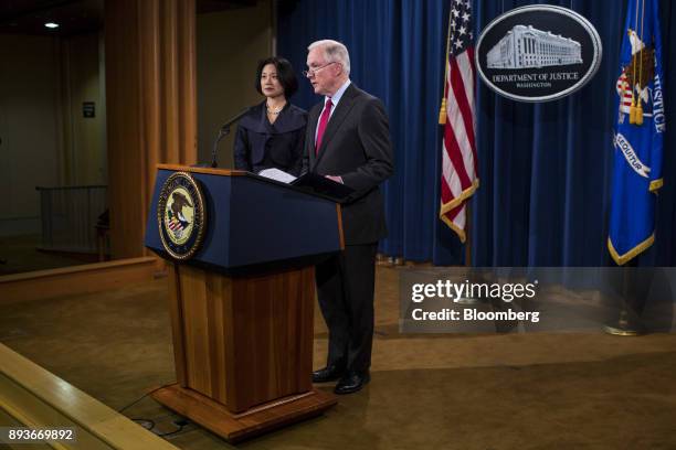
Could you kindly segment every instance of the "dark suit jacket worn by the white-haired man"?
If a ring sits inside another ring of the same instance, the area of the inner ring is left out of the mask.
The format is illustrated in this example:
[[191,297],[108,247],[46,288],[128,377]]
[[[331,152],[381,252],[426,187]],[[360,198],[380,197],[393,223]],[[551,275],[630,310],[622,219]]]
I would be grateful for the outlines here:
[[340,175],[356,190],[342,205],[346,245],[374,243],[387,236],[384,205],[378,185],[394,162],[388,116],[378,98],[350,84],[331,115],[315,156],[315,131],[324,101],[310,110],[305,135],[303,173]]

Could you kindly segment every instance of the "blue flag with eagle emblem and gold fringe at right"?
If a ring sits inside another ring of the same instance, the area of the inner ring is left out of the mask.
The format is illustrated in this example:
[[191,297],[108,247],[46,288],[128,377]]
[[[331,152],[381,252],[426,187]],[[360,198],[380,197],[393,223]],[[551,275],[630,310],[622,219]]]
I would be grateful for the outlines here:
[[665,130],[658,0],[629,0],[617,78],[608,248],[623,265],[655,240]]

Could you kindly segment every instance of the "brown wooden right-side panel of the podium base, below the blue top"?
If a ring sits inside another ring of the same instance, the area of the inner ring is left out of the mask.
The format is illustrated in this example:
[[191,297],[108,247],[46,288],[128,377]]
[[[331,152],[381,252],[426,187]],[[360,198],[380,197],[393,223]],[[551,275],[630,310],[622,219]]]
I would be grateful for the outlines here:
[[311,389],[314,274],[308,267],[232,279],[232,410]]

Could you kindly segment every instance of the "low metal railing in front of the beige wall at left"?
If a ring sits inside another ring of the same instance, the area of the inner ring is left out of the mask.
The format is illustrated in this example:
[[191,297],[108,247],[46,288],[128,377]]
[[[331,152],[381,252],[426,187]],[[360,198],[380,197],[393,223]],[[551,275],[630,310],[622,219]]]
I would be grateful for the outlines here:
[[42,247],[97,253],[97,222],[108,207],[107,186],[35,188],[40,192]]

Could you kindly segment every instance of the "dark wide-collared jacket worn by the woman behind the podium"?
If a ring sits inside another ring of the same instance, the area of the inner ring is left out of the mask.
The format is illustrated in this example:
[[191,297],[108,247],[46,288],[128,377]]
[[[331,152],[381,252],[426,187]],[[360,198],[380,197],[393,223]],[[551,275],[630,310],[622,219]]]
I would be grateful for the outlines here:
[[277,168],[298,176],[307,113],[287,103],[277,120],[267,120],[265,101],[242,117],[234,140],[235,169],[257,173]]

